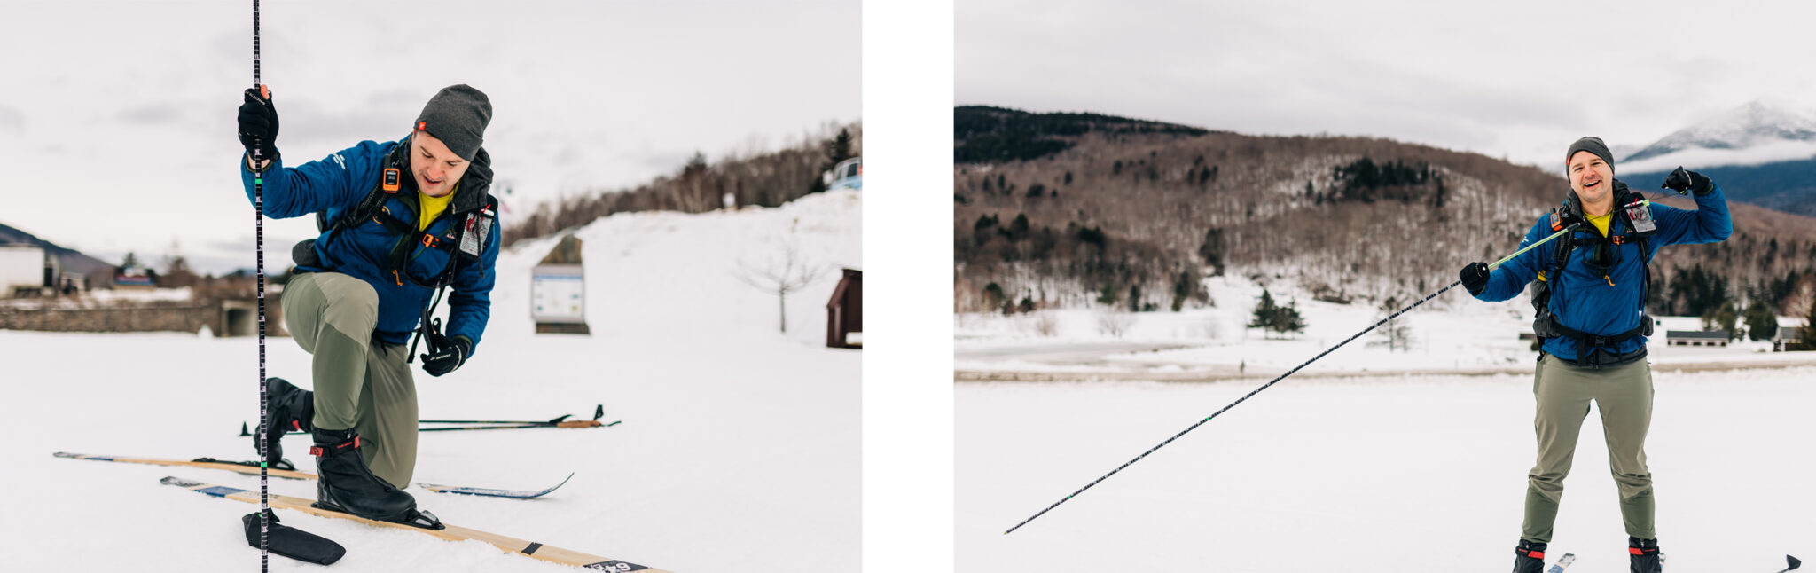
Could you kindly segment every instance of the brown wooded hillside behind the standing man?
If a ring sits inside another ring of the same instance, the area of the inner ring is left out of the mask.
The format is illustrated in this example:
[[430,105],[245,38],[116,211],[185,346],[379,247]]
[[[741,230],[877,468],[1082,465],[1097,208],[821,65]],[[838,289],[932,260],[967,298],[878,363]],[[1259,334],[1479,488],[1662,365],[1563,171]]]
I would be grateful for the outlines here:
[[[1382,138],[981,106],[955,109],[953,124],[961,311],[1197,306],[1211,302],[1199,282],[1215,273],[1278,276],[1331,300],[1406,300],[1471,260],[1515,251],[1569,189],[1562,162],[1544,171]],[[1729,207],[1727,242],[1660,251],[1658,311],[1694,313],[1716,298],[1781,306],[1800,284],[1816,289],[1816,218]],[[1673,289],[1693,275],[1696,284]]]

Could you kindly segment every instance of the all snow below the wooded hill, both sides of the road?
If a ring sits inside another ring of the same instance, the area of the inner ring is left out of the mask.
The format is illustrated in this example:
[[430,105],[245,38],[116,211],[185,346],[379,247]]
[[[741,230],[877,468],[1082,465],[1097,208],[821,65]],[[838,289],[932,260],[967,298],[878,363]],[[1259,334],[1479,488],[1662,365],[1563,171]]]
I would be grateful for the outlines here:
[[[961,380],[1055,380],[957,384],[957,571],[1511,568],[1535,462],[1535,353],[1516,338],[1531,306],[1460,287],[1402,315],[1409,351],[1357,338],[1004,537],[1384,317],[1275,289],[1309,327],[1268,338],[1242,327],[1258,286],[1208,286],[1219,307],[1142,313],[1120,338],[1082,309],[1057,311],[1048,337],[1028,317],[955,318]],[[1665,329],[1700,326],[1663,320],[1647,455],[1667,571],[1772,573],[1816,555],[1816,353],[1667,347]],[[1591,411],[1549,551],[1576,553],[1571,573],[1627,571],[1607,467]]]

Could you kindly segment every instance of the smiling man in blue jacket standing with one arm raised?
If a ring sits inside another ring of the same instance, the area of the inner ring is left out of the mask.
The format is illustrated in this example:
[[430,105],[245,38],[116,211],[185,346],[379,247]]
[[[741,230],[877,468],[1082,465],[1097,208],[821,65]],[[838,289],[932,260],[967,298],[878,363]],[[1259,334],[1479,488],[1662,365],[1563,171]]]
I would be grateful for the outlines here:
[[1540,337],[1533,395],[1538,464],[1527,475],[1525,526],[1515,548],[1515,573],[1540,573],[1551,526],[1564,497],[1564,477],[1576,453],[1576,433],[1589,402],[1602,409],[1609,469],[1620,486],[1633,573],[1658,573],[1653,524],[1653,475],[1645,467],[1645,433],[1653,422],[1653,371],[1645,362],[1647,266],[1662,246],[1718,242],[1734,233],[1722,189],[1696,171],[1678,167],[1665,187],[1694,193],[1696,211],[1642,204],[1640,193],[1614,180],[1614,156],[1600,138],[1576,140],[1564,155],[1571,191],[1564,206],[1540,216],[1522,246],[1556,238],[1489,271],[1471,262],[1460,273],[1469,295],[1507,300],[1538,280],[1533,306]]

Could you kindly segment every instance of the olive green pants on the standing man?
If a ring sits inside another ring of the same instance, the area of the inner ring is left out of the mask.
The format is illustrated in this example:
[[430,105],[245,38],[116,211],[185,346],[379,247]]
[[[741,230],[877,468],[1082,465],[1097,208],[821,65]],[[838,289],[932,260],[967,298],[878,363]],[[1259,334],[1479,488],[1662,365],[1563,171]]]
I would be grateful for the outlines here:
[[1620,515],[1627,535],[1658,538],[1653,526],[1653,473],[1645,469],[1645,431],[1653,426],[1653,367],[1642,358],[1602,369],[1576,367],[1544,355],[1533,375],[1538,415],[1538,464],[1527,475],[1522,538],[1551,542],[1551,526],[1564,498],[1564,477],[1576,455],[1576,433],[1589,402],[1602,411],[1607,466],[1620,486]]

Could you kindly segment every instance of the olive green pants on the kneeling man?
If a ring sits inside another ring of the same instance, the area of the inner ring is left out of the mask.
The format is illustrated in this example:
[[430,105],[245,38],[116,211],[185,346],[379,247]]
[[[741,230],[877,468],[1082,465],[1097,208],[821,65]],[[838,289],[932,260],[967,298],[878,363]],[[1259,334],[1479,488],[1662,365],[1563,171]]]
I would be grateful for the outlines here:
[[416,471],[416,380],[409,351],[372,340],[378,291],[341,273],[298,273],[283,286],[283,327],[314,355],[316,417],[321,429],[360,435],[372,475],[409,488]]

